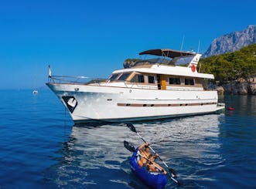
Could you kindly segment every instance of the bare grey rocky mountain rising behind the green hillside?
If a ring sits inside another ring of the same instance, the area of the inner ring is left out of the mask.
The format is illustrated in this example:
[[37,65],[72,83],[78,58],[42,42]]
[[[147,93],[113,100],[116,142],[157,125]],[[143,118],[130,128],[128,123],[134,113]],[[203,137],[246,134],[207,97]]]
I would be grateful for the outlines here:
[[248,25],[243,31],[231,32],[214,39],[207,52],[204,52],[203,57],[234,52],[254,43],[256,43],[256,25]]

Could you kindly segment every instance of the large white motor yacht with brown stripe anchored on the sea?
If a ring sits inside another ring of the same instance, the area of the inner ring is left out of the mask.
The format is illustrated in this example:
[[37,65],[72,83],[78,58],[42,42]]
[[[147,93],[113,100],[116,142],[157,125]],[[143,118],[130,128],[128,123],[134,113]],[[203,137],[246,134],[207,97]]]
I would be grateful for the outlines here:
[[46,85],[74,123],[155,120],[224,109],[217,90],[207,87],[213,74],[197,71],[200,54],[172,49],[139,54],[157,58],[138,60],[97,83],[70,82],[67,76],[52,76],[49,69]]

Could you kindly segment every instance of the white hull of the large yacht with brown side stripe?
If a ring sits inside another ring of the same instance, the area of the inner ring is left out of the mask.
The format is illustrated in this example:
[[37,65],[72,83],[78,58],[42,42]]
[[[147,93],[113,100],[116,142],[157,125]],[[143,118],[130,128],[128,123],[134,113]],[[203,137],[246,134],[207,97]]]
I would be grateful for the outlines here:
[[155,120],[213,113],[224,108],[217,106],[217,91],[65,83],[47,85],[67,107],[75,123]]

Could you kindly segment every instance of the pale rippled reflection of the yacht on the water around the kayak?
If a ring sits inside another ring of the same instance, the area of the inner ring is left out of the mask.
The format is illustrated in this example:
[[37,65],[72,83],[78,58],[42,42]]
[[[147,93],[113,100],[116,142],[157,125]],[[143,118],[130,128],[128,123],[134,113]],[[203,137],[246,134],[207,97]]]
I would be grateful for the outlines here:
[[[199,170],[223,161],[217,152],[220,117],[217,114],[191,116],[134,126],[162,159],[178,171],[179,179],[193,186],[207,179]],[[57,152],[57,163],[46,170],[48,183],[58,187],[144,187],[131,174],[128,164],[131,153],[123,147],[124,140],[135,146],[142,143],[124,124],[73,127],[70,139]],[[175,184],[169,181],[168,186]]]

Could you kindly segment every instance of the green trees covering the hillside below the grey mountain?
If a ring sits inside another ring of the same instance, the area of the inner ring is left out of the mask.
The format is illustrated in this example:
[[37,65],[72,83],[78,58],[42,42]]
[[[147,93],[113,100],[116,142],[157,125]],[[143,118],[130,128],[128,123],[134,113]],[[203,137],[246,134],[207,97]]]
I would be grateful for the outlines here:
[[256,44],[236,52],[210,56],[200,60],[200,73],[212,73],[220,83],[256,76]]

